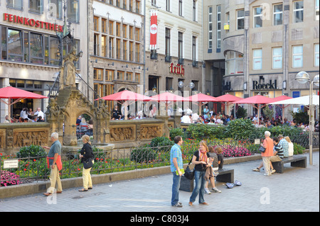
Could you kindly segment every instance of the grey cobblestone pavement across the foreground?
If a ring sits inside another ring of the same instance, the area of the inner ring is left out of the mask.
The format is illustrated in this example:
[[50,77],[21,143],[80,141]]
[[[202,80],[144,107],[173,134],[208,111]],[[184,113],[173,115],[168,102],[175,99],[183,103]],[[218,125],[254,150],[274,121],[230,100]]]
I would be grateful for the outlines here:
[[48,198],[42,193],[0,200],[1,212],[319,212],[319,152],[313,165],[294,168],[285,164],[284,174],[264,176],[252,171],[260,161],[225,165],[235,169],[235,179],[242,186],[227,188],[216,182],[222,193],[206,194],[209,205],[199,205],[198,198],[188,206],[191,192],[180,191],[183,208],[171,207],[171,174],[142,179],[97,184],[92,190],[79,192],[68,188]]

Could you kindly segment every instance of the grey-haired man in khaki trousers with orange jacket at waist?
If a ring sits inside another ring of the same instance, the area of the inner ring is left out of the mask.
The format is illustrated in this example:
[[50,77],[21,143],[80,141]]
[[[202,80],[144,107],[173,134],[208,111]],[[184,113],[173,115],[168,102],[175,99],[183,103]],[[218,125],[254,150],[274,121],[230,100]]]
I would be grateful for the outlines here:
[[50,171],[50,187],[46,193],[43,193],[45,196],[50,196],[55,191],[55,183],[58,184],[56,193],[62,193],[63,188],[60,181],[59,171],[62,169],[61,162],[61,143],[58,140],[59,135],[57,132],[51,134],[51,142],[53,144],[51,147],[43,146],[44,149],[49,149],[47,163]]

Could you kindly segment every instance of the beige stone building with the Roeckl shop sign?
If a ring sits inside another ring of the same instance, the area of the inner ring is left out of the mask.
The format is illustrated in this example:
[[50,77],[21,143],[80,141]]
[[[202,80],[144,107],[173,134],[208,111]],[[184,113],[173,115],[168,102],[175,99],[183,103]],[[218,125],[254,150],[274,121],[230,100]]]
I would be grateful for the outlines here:
[[[208,1],[211,6],[212,50],[220,44],[220,52],[209,57],[225,62],[224,93],[242,98],[309,95],[309,83],[294,78],[301,71],[311,79],[319,74],[319,0]],[[204,21],[210,30],[209,13]],[[204,37],[204,52],[209,52],[210,33]]]

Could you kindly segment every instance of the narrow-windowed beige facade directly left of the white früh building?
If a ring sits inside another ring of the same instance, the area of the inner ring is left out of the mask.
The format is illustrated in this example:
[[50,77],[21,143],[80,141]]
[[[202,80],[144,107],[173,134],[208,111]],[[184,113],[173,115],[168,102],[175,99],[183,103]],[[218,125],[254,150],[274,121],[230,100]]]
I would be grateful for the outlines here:
[[[88,68],[94,98],[124,89],[141,93],[144,72],[144,1],[89,0]],[[110,111],[112,102],[108,102]]]

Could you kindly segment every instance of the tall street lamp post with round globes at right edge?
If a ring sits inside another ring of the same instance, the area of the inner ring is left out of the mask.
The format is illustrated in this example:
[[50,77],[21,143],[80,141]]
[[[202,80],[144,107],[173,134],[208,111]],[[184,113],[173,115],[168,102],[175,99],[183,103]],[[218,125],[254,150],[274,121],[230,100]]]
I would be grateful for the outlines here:
[[314,77],[314,80],[311,81],[310,75],[306,72],[299,72],[295,79],[300,84],[305,84],[310,82],[309,88],[309,164],[312,165],[312,132],[314,131],[314,119],[313,119],[313,84],[319,86],[319,74]]

